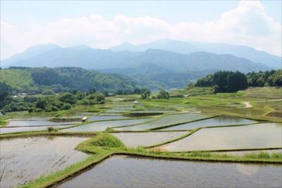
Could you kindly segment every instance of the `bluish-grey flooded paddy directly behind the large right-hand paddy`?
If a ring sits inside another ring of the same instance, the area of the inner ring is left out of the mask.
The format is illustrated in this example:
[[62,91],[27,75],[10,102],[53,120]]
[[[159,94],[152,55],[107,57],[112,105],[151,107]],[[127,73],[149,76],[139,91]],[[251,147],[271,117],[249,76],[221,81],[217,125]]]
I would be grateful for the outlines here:
[[199,120],[192,123],[185,123],[183,125],[177,125],[173,127],[167,127],[163,130],[193,130],[198,127],[212,127],[223,125],[243,125],[256,123],[254,120],[248,120],[244,118],[234,118],[231,116],[221,115],[215,118],[209,118],[206,120]]

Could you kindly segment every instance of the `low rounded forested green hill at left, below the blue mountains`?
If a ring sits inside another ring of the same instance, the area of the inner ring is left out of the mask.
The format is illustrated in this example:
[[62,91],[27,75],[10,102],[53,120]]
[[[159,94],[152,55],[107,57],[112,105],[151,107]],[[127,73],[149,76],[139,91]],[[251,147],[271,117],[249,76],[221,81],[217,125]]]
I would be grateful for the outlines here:
[[83,68],[8,68],[0,70],[0,84],[6,83],[17,92],[41,93],[71,90],[99,92],[133,91],[135,82],[123,75],[98,73]]

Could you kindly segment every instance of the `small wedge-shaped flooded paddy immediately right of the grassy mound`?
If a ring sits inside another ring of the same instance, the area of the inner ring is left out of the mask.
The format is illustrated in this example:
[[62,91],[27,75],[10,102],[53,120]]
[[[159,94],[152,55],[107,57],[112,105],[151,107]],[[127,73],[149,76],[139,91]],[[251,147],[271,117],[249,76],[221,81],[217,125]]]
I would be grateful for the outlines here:
[[152,146],[187,134],[188,132],[126,132],[111,133],[125,146]]

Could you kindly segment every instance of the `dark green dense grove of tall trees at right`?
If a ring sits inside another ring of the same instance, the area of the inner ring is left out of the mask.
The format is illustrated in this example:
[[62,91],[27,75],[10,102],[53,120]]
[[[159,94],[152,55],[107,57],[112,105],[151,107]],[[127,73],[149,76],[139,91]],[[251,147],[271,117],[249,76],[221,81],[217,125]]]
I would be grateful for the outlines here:
[[237,92],[247,87],[282,86],[282,70],[252,72],[218,71],[198,79],[197,87],[214,87],[214,92]]

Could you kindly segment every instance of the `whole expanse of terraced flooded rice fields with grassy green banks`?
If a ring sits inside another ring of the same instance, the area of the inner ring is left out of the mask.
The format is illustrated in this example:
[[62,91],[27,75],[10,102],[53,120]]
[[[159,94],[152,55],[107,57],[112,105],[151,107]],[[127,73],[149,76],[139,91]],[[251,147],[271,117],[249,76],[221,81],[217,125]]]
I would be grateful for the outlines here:
[[[8,125],[0,127],[0,187],[38,178],[28,186],[281,187],[281,89],[140,99],[139,105],[124,97],[74,106],[56,116],[4,115]],[[88,122],[79,125],[85,116]],[[50,126],[58,130],[43,132]],[[50,175],[58,170],[63,171]]]

